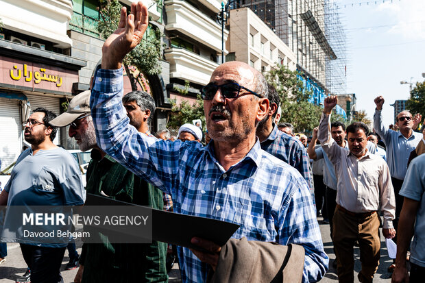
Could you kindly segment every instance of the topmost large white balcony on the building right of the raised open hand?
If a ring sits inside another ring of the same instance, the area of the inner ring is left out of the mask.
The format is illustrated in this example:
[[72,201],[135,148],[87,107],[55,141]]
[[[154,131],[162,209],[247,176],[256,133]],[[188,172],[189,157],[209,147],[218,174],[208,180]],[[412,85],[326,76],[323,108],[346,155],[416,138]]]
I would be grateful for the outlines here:
[[[218,53],[221,52],[221,25],[186,1],[167,0],[165,1],[165,11],[168,19],[165,29],[178,31]],[[224,42],[226,42],[228,34],[228,30],[225,29]],[[228,51],[225,49],[224,53],[227,54]]]

